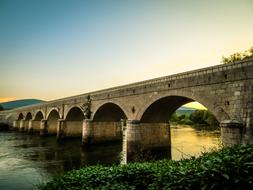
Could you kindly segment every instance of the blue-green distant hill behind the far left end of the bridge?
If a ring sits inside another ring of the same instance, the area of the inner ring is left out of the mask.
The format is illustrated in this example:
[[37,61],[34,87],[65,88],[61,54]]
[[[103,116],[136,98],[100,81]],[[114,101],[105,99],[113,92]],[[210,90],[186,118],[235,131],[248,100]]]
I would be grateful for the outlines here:
[[43,102],[45,101],[37,100],[37,99],[24,99],[24,100],[15,100],[15,101],[10,101],[10,102],[0,103],[0,105],[4,108],[4,110],[10,110],[10,109],[19,108],[22,106],[29,106],[29,105],[39,104]]

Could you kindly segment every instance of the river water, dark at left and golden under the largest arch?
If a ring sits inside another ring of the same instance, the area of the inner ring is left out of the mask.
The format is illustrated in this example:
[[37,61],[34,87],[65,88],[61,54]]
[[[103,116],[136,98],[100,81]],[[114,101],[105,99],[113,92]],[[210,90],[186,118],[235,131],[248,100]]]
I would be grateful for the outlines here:
[[[220,147],[220,134],[189,126],[171,128],[173,160],[197,156]],[[120,163],[122,144],[82,148],[80,139],[56,141],[55,137],[0,132],[0,189],[35,189],[54,174],[87,165]]]

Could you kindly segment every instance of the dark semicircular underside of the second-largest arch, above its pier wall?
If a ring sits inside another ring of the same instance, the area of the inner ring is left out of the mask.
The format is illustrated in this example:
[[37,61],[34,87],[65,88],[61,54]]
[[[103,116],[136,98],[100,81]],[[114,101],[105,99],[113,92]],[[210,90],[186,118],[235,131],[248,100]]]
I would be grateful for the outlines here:
[[105,103],[94,113],[93,121],[120,121],[127,118],[124,111],[115,103]]

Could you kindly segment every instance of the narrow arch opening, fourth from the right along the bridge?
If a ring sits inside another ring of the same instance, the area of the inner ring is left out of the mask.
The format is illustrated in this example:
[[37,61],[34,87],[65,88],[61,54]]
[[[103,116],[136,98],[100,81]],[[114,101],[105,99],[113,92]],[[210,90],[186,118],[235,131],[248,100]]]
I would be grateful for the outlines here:
[[46,124],[46,130],[47,133],[50,135],[54,135],[57,133],[57,125],[58,120],[60,119],[60,114],[57,110],[53,109],[50,111],[47,117],[47,124]]

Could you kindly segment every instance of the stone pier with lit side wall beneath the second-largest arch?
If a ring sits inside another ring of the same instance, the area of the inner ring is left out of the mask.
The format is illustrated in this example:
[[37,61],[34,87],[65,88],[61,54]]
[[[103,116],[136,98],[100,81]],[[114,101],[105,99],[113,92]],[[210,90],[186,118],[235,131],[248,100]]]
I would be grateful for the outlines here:
[[121,139],[121,122],[94,122],[90,119],[83,121],[83,145],[119,141]]

